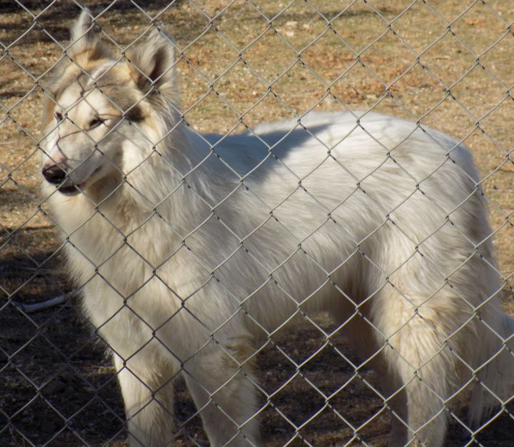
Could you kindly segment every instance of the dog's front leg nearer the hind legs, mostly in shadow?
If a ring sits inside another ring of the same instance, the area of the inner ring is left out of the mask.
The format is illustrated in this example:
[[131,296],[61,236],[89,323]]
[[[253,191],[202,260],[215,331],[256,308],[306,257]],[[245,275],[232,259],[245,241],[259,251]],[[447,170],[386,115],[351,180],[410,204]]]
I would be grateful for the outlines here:
[[244,338],[223,348],[212,341],[183,367],[213,447],[258,445],[255,379],[246,362],[251,345]]

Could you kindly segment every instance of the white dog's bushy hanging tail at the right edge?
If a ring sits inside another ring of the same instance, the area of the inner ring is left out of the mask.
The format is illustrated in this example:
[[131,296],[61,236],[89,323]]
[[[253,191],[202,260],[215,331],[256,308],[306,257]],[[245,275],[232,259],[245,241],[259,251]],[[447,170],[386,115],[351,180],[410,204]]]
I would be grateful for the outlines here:
[[484,338],[475,348],[481,345],[488,354],[478,366],[471,394],[469,418],[475,426],[514,396],[514,319],[498,312],[488,323],[482,323],[484,331],[479,336]]

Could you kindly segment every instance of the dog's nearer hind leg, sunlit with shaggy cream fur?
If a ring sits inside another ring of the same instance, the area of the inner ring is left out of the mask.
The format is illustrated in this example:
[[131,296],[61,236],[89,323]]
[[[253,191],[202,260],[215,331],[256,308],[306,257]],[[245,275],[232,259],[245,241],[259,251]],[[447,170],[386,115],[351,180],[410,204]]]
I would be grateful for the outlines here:
[[[400,421],[405,413],[395,410],[393,431],[403,433],[406,424],[407,438],[390,440],[391,445],[442,446],[447,427],[446,400],[450,392],[454,362],[445,350],[445,336],[438,325],[430,319],[430,313],[423,312],[423,306],[416,309],[399,293],[381,293],[378,308],[374,309],[375,332],[379,345],[384,346],[381,355],[388,374],[396,376],[396,400],[403,398],[407,406],[406,420]],[[398,436],[392,433],[393,436]],[[403,436],[403,435],[402,435]]]

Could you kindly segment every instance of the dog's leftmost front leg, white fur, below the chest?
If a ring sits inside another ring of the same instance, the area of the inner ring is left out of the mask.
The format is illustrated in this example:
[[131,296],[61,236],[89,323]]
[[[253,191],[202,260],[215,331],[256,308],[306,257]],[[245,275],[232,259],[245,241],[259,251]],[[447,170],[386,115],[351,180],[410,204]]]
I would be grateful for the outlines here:
[[125,403],[130,446],[171,445],[175,433],[172,368],[166,368],[166,375],[156,376],[148,365],[132,359],[124,366],[116,354],[114,364]]

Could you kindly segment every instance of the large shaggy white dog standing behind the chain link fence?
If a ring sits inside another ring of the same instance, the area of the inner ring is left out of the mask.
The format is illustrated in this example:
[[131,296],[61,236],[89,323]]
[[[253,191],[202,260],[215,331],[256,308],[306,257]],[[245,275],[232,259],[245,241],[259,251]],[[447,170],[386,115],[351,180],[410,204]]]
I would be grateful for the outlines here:
[[488,211],[465,147],[378,114],[310,113],[200,136],[173,42],[111,54],[88,11],[45,107],[44,208],[109,343],[131,446],[173,440],[183,373],[213,446],[258,445],[252,363],[298,313],[328,311],[373,358],[391,443],[441,446],[511,390]]

